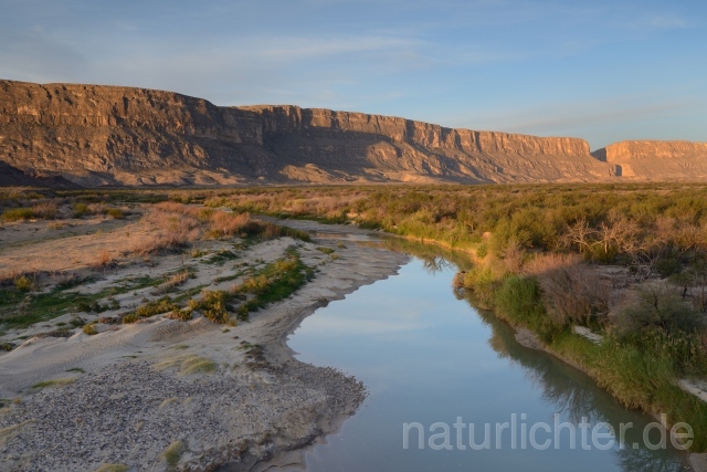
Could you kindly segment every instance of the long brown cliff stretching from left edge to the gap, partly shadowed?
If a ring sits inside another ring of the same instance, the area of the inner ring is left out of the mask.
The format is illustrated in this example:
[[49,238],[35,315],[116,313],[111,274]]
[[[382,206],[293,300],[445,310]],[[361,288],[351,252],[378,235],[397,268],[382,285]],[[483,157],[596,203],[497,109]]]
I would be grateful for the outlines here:
[[0,81],[0,160],[83,185],[578,181],[587,141],[131,87]]

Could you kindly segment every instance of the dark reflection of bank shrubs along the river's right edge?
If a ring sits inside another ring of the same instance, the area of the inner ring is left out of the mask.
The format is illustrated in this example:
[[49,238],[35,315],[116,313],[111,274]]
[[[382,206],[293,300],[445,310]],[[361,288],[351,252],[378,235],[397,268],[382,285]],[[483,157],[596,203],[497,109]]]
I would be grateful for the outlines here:
[[[492,313],[477,311],[478,316],[493,329],[488,340],[498,356],[521,365],[526,376],[542,391],[542,397],[557,412],[568,416],[569,421],[579,424],[587,418],[592,426],[599,422],[611,424],[620,431],[620,423],[633,422],[633,428],[624,437],[625,447],[614,449],[616,460],[624,472],[673,472],[683,470],[683,461],[672,451],[652,451],[643,440],[644,427],[653,418],[640,411],[620,406],[606,391],[598,388],[585,374],[561,360],[535,349],[527,348],[515,338],[514,329]],[[651,443],[659,442],[659,431],[653,429]],[[616,443],[619,441],[616,440]],[[667,438],[669,447],[669,438]],[[633,444],[642,444],[633,449]],[[577,442],[580,447],[579,438]]]

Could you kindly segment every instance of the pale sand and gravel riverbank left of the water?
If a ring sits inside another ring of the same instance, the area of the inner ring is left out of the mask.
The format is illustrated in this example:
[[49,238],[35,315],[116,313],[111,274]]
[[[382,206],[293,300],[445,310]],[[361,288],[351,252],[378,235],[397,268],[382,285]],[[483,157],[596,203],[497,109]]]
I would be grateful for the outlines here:
[[[97,238],[139,231],[126,230],[129,224]],[[110,293],[110,301],[97,301],[102,313],[65,311],[57,302],[56,317],[0,328],[0,343],[12,347],[0,354],[0,469],[265,470],[298,463],[302,448],[356,411],[365,387],[335,369],[295,360],[286,336],[317,307],[394,274],[407,256],[357,244],[366,238],[355,228],[293,225],[328,235],[313,242],[198,241],[187,255],[125,258],[53,281],[54,289],[82,281],[66,292]],[[72,235],[84,242],[91,237]],[[36,244],[49,251],[51,244],[66,247],[67,239],[42,238]],[[166,294],[178,300],[198,298],[204,289],[228,291],[292,251],[315,269],[312,280],[235,326],[212,323],[198,310],[190,321],[162,314],[118,322],[126,311]],[[4,248],[0,260],[12,254]],[[57,256],[50,265],[63,263]],[[175,283],[184,271],[188,277]],[[92,322],[88,334],[73,327]]]

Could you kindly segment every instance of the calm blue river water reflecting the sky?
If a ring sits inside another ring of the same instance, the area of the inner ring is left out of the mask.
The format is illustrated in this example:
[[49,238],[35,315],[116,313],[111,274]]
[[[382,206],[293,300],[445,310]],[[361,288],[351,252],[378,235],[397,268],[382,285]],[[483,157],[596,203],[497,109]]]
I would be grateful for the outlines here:
[[[618,406],[580,373],[518,345],[508,326],[493,316],[477,315],[466,302],[456,300],[452,268],[436,273],[429,269],[413,260],[398,276],[320,308],[291,336],[288,345],[300,353],[298,359],[356,375],[370,392],[339,433],[307,452],[307,470],[682,469],[674,451],[511,450],[507,431],[500,450],[403,450],[403,422],[422,423],[429,438],[430,424],[451,426],[457,417],[474,422],[477,434],[483,434],[483,423],[509,421],[511,413],[518,418],[526,413],[529,426],[552,423],[556,412],[560,421],[579,421],[585,416],[593,422],[609,421],[616,429],[619,422],[633,421],[635,428],[642,428],[651,421]],[[452,433],[455,443],[454,430]],[[415,438],[413,434],[412,442],[416,444]]]

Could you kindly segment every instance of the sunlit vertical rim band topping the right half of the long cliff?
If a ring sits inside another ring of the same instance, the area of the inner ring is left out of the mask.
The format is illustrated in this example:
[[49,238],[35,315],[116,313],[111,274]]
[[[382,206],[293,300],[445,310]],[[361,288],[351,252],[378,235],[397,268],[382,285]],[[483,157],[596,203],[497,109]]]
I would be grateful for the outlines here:
[[392,143],[409,143],[428,148],[454,148],[466,153],[547,156],[589,156],[589,144],[580,138],[538,137],[529,135],[446,128],[395,116],[336,112],[326,108],[300,108],[294,105],[242,106],[262,116],[263,133],[333,132],[378,135]]

